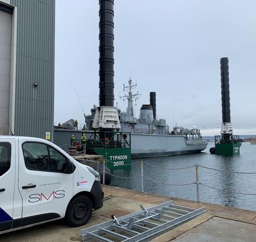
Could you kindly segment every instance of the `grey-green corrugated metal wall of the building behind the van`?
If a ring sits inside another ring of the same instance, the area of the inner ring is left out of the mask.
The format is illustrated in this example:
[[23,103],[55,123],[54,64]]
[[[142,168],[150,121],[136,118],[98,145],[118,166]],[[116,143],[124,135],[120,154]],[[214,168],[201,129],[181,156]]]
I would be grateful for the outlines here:
[[45,138],[51,132],[53,140],[55,0],[10,4],[18,13],[14,133]]

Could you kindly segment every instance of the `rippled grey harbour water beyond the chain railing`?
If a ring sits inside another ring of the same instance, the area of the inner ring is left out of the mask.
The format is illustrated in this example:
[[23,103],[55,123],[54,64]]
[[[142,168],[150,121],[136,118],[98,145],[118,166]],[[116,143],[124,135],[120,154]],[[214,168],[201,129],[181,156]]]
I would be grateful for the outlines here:
[[[256,146],[242,143],[240,155],[223,157],[211,155],[209,149],[214,143],[209,142],[204,152],[191,155],[178,155],[159,158],[143,159],[143,172],[148,178],[171,184],[184,184],[196,181],[195,167],[186,170],[163,170],[150,166],[147,163],[167,168],[180,168],[191,165],[203,165],[218,170],[233,172],[256,172]],[[126,170],[115,170],[113,174],[129,176],[131,179],[112,177],[110,185],[141,191],[140,162],[132,160],[131,167]],[[239,195],[233,193],[256,193],[256,174],[230,174],[199,167],[199,182],[225,191],[214,190],[200,185],[200,201],[221,204],[230,207],[239,207],[256,211],[256,196]],[[178,198],[196,200],[196,184],[186,186],[171,186],[145,179],[145,192],[168,195]]]

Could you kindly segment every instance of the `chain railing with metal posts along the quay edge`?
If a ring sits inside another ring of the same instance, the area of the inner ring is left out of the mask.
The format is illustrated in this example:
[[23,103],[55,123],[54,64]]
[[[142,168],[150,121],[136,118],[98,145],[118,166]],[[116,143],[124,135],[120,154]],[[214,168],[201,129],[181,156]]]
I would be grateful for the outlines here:
[[[110,160],[107,160],[107,162],[110,162]],[[256,196],[256,193],[246,193],[246,192],[230,191],[230,190],[226,190],[226,189],[219,189],[219,188],[212,187],[209,184],[204,184],[202,182],[199,182],[199,167],[202,167],[202,168],[208,169],[208,170],[218,171],[218,172],[235,173],[235,174],[256,174],[256,172],[223,171],[223,170],[218,170],[218,169],[215,169],[215,168],[212,168],[212,167],[202,166],[202,165],[198,165],[198,164],[187,166],[187,167],[180,167],[180,168],[166,168],[166,167],[156,166],[156,165],[150,164],[148,162],[143,162],[142,160],[140,160],[139,162],[140,162],[141,192],[144,192],[144,179],[147,179],[147,180],[150,180],[150,181],[153,181],[153,182],[156,182],[156,183],[161,183],[161,184],[170,185],[170,186],[185,186],[185,185],[195,184],[196,185],[197,203],[200,202],[200,196],[199,196],[199,194],[200,194],[199,193],[200,185],[202,185],[203,187],[215,189],[215,190],[218,190],[218,191],[231,192],[231,193],[236,193],[236,194],[239,194],[239,195]],[[139,162],[132,163],[132,165],[137,164]],[[112,162],[110,162],[110,163],[112,163]],[[144,175],[144,172],[143,172],[143,165],[144,164],[147,164],[148,166],[156,167],[156,168],[159,168],[159,169],[163,169],[163,170],[185,170],[185,169],[195,167],[196,181],[191,182],[191,183],[185,183],[185,184],[171,184],[171,183],[166,183],[166,182],[162,182],[162,181],[157,181],[157,180],[151,179],[148,176]],[[104,160],[104,162],[103,162],[103,185],[105,185],[105,173],[107,173],[111,176],[114,176],[116,178],[121,178],[121,179],[135,179],[134,176],[118,176],[118,175],[114,175],[114,174],[106,172],[105,171],[105,160]]]

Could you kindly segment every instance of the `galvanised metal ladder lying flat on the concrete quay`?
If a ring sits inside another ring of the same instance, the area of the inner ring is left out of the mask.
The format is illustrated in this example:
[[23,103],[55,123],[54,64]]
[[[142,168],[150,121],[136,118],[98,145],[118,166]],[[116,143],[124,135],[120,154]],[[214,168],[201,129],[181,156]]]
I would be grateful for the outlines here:
[[112,221],[81,230],[82,240],[94,241],[149,241],[182,223],[205,212],[205,208],[193,209],[177,206],[168,201],[148,209],[140,205],[141,211],[125,215]]

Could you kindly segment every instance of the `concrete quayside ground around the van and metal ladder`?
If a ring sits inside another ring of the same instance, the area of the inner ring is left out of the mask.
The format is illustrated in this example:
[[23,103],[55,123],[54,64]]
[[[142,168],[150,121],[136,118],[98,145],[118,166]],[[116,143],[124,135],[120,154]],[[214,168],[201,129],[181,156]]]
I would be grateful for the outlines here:
[[57,242],[81,241],[81,229],[91,227],[116,217],[139,210],[139,205],[151,207],[165,201],[191,208],[205,206],[206,213],[164,233],[153,241],[256,241],[256,212],[220,205],[196,203],[195,201],[177,199],[141,193],[123,188],[105,186],[105,201],[102,208],[94,211],[90,221],[82,227],[70,228],[64,221],[55,221],[37,225],[28,229],[0,235],[0,241],[12,242]]

